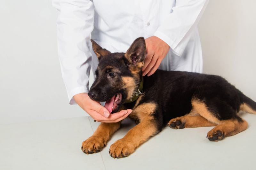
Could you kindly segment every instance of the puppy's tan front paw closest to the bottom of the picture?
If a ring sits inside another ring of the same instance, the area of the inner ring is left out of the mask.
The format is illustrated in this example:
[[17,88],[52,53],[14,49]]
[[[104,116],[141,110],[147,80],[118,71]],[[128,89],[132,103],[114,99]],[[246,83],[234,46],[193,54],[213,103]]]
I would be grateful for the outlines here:
[[117,140],[109,148],[109,154],[113,158],[125,158],[133,153],[135,146],[127,141],[122,139]]

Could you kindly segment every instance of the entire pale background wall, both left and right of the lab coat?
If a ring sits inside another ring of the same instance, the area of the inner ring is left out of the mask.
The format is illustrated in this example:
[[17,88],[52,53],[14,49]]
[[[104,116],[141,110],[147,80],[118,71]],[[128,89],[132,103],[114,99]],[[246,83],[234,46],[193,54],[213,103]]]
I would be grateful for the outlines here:
[[[199,23],[204,72],[256,100],[256,1],[211,0]],[[0,124],[85,115],[70,106],[57,55],[51,0],[0,5]]]

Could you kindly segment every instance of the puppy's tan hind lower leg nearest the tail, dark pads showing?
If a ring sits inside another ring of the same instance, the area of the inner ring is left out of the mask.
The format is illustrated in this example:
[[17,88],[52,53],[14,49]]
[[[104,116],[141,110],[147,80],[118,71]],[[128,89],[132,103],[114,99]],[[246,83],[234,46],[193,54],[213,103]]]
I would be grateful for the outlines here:
[[248,123],[240,117],[238,119],[221,121],[221,124],[217,125],[207,133],[207,138],[210,141],[217,142],[224,137],[236,135],[247,129],[247,127]]

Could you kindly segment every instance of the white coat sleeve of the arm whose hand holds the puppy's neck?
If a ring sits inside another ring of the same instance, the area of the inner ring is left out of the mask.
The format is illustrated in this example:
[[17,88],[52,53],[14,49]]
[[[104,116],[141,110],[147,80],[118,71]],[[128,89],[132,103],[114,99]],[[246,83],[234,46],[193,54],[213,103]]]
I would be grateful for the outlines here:
[[174,54],[181,56],[208,1],[176,0],[172,12],[166,16],[154,35],[166,42]]

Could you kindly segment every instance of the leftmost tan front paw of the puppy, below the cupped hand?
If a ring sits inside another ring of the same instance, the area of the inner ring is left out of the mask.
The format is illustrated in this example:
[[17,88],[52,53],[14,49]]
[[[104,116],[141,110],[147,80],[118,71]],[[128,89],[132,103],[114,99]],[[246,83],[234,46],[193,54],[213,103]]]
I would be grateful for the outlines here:
[[82,143],[81,149],[84,153],[91,154],[100,152],[105,145],[106,142],[102,137],[91,136]]

